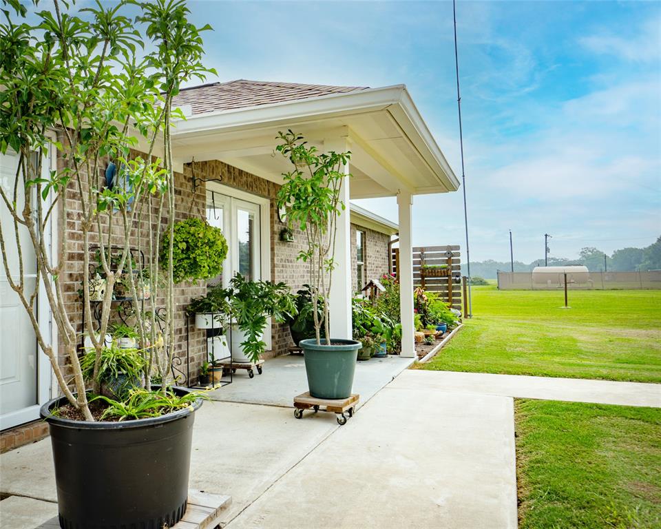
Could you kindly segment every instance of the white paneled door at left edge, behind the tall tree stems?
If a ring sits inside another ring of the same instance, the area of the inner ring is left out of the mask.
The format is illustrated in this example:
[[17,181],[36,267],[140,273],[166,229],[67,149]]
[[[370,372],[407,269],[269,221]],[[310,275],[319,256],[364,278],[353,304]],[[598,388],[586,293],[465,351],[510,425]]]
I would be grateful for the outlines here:
[[[16,154],[0,154],[0,185],[6,192],[10,191],[10,196],[14,188],[18,160]],[[45,171],[48,171],[48,164],[44,165]],[[17,204],[21,207],[24,203],[25,196],[21,192],[17,196]],[[3,202],[0,203],[0,222],[9,269],[14,280],[18,280],[19,253],[14,239],[14,223]],[[28,230],[20,225],[19,241],[23,254],[25,293],[29,298],[36,283],[36,257]],[[48,337],[48,308],[43,307],[40,301],[43,301],[43,295],[38,296],[35,303],[40,320],[45,320],[42,329]],[[10,287],[3,265],[0,268],[0,429],[39,417],[39,405],[48,400],[48,370],[48,361],[36,343],[28,313],[21,304],[19,295]]]

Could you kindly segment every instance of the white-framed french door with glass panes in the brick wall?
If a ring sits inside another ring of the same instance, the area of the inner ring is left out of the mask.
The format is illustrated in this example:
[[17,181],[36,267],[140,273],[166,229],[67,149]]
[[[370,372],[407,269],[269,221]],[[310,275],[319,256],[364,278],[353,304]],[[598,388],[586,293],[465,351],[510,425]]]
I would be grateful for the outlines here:
[[[211,282],[227,287],[237,273],[251,281],[270,279],[269,199],[224,185],[207,186],[207,220],[222,229],[228,247],[222,274]],[[270,319],[264,342],[271,349]]]

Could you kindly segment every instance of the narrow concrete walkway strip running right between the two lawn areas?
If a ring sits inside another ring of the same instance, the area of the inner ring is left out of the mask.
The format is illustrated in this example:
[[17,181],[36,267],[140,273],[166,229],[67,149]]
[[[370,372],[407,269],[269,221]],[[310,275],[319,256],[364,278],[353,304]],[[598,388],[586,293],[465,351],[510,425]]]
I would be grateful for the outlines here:
[[661,384],[640,382],[408,369],[388,387],[661,408]]

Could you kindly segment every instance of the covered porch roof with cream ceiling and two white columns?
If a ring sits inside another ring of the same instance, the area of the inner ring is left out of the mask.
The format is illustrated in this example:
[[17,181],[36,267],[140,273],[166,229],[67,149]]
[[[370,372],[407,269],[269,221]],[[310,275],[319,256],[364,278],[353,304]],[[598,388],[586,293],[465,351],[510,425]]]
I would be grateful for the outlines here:
[[[238,83],[233,82],[233,83]],[[254,83],[242,81],[242,83]],[[231,84],[231,83],[230,83]],[[263,83],[262,83],[263,84]],[[295,85],[308,86],[308,85]],[[254,88],[250,85],[251,90]],[[191,90],[201,90],[198,87]],[[209,87],[211,90],[213,86]],[[314,87],[313,87],[314,88]],[[339,87],[336,87],[339,88]],[[243,89],[242,89],[243,90]],[[262,87],[260,87],[262,90]],[[315,93],[311,90],[310,93]],[[456,191],[459,180],[415,107],[406,87],[356,88],[321,96],[297,96],[273,103],[200,107],[199,98],[182,92],[177,102],[187,115],[174,133],[177,170],[190,163],[219,160],[272,183],[290,170],[275,156],[277,133],[292,129],[321,152],[351,152],[342,201],[396,197],[399,214],[401,356],[415,357],[413,324],[412,197]],[[211,94],[213,95],[213,94]],[[211,100],[211,95],[207,97]],[[243,97],[241,101],[245,101]],[[222,182],[222,174],[218,175]],[[271,203],[271,211],[275,205]],[[350,215],[338,222],[337,267],[330,293],[331,335],[351,338],[352,263]],[[263,247],[263,246],[262,246]],[[266,276],[270,276],[269,273]],[[333,310],[333,307],[342,307]]]

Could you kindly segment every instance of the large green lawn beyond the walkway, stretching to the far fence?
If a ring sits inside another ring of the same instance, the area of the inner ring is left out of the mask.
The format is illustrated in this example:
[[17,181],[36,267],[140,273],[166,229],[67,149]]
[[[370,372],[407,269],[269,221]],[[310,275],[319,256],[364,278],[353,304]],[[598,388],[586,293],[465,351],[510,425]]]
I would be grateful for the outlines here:
[[473,287],[474,317],[416,369],[661,382],[661,291]]

